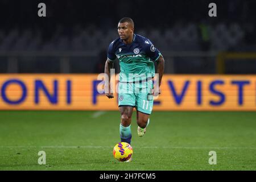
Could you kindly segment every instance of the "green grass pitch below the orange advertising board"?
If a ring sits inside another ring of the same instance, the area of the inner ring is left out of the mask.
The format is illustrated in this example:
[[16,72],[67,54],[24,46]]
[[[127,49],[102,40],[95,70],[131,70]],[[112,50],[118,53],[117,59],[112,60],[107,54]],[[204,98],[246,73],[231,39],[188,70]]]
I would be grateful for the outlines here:
[[135,118],[133,161],[122,163],[118,111],[0,111],[0,170],[256,170],[255,112],[154,111],[143,138]]

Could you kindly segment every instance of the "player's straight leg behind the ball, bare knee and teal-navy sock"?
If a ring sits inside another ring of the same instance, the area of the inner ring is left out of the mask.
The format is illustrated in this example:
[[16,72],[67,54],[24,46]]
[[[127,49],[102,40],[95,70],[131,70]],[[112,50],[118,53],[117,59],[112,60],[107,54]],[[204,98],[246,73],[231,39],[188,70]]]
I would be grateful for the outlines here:
[[119,133],[121,142],[131,143],[131,115],[133,114],[133,107],[120,106],[121,123],[119,126]]

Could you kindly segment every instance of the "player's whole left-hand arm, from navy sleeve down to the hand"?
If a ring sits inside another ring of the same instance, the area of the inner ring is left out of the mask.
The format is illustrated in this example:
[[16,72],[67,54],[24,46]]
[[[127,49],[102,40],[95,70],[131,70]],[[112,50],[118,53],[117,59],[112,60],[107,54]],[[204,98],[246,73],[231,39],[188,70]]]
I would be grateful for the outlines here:
[[116,58],[114,48],[113,48],[114,41],[109,44],[108,48],[108,59],[105,63],[105,94],[108,98],[114,98],[113,93],[110,90],[110,69],[114,68],[114,60]]

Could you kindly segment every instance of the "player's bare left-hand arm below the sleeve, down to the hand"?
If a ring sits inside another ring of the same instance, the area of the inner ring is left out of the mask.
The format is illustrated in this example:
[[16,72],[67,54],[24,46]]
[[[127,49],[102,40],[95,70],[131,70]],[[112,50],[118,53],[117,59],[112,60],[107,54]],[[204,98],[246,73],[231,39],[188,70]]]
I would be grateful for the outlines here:
[[108,98],[114,98],[113,93],[110,93],[110,69],[111,68],[114,68],[114,61],[107,59],[105,63],[105,75],[107,76],[105,78],[105,94]]

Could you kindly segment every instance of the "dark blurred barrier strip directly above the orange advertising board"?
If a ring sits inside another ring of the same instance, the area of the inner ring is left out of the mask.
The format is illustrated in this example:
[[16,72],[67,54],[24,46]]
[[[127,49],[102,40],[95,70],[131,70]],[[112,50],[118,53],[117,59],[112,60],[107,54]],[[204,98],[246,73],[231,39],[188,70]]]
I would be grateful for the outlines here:
[[[162,51],[165,73],[256,74],[254,52]],[[96,51],[0,51],[0,73],[102,73],[106,53]],[[116,72],[119,61],[115,60]],[[155,65],[156,67],[156,65]]]

